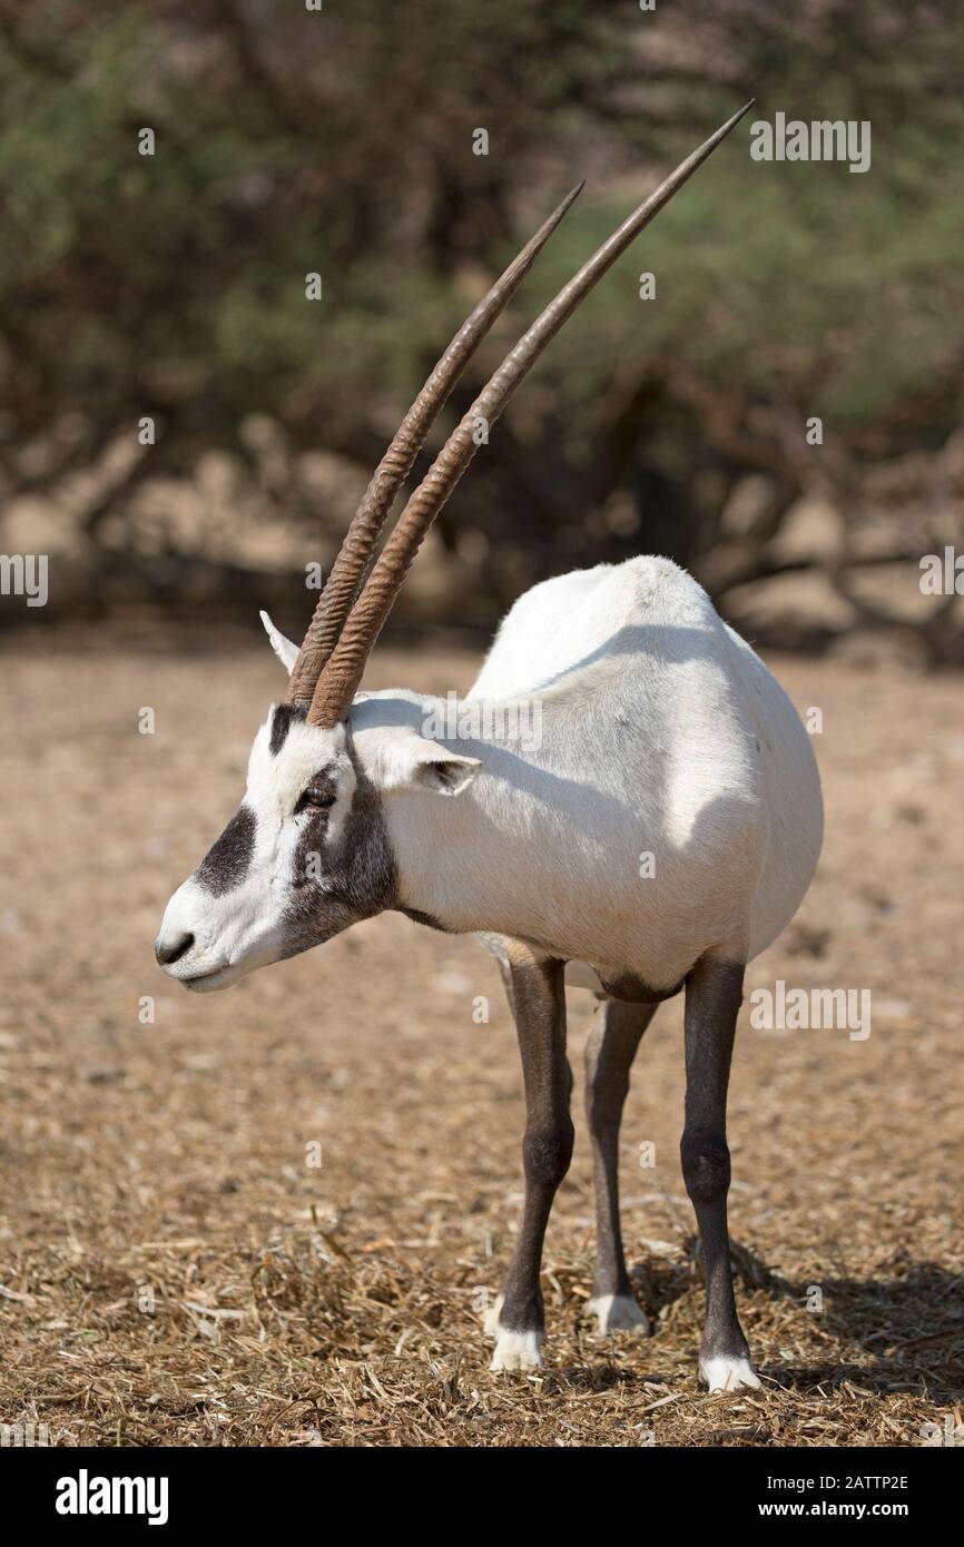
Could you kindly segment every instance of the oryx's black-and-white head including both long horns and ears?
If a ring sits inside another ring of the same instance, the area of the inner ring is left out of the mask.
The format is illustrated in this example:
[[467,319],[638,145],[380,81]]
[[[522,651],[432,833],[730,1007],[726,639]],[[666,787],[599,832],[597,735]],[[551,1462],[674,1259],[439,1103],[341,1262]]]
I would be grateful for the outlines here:
[[409,410],[353,517],[300,648],[262,614],[288,667],[288,693],[254,739],[237,814],[167,905],[155,951],[169,976],[195,990],[221,989],[359,919],[404,907],[385,803],[458,794],[480,764],[419,735],[418,715],[404,712],[405,699],[409,709],[418,704],[415,695],[356,698],[371,647],[426,532],[526,371],[750,105],[695,150],[546,306],[449,436],[373,563],[432,422],[582,184],[563,200],[463,323]]

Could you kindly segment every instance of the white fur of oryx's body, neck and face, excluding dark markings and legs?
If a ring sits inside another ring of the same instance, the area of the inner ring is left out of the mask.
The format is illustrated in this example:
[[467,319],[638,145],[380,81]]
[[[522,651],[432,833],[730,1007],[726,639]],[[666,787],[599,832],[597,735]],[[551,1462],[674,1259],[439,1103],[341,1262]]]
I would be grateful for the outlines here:
[[[291,661],[294,647],[271,634]],[[446,712],[511,729],[427,738]],[[359,777],[378,794],[393,893],[373,902],[586,964],[593,975],[569,979],[602,992],[633,976],[664,996],[707,951],[758,954],[820,852],[820,784],[797,712],[668,558],[534,586],[455,713],[410,690],[361,693],[342,726],[296,719],[272,753],[275,713],[251,753],[243,876],[212,894],[201,871],[172,899],[166,933],[195,939],[175,975],[197,987],[291,954],[285,920],[311,820],[296,806],[319,772],[334,794],[328,848],[345,835]],[[444,787],[424,780],[439,766]]]

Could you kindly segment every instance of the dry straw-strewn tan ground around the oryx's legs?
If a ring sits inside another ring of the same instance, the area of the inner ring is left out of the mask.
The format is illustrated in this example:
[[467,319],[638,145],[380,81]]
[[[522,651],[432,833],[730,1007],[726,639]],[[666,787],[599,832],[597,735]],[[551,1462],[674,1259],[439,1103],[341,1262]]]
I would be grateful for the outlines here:
[[[470,670],[382,653],[376,681]],[[758,1032],[744,1010],[732,1227],[764,1389],[709,1397],[679,1004],[644,1043],[622,1140],[656,1335],[600,1340],[582,1318],[579,1114],[545,1258],[546,1371],[491,1375],[478,1307],[512,1244],[521,1131],[491,961],[385,916],[231,993],[175,992],[152,958],[161,908],[234,811],[274,662],[68,642],[8,657],[0,1420],[60,1445],[901,1446],[959,1419],[961,685],[780,673],[823,710],[829,835],[750,987],[868,987],[873,1033]],[[574,996],[576,1063],[591,1015]]]

